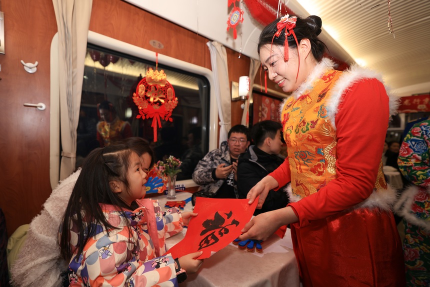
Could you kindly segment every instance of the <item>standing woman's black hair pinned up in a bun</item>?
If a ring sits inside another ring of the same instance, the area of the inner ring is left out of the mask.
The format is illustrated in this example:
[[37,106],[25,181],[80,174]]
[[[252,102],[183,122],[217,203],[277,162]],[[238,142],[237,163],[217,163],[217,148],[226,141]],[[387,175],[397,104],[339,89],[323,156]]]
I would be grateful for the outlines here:
[[[260,48],[265,44],[271,44],[273,39],[273,45],[283,46],[285,41],[285,29],[282,30],[279,37],[274,37],[277,28],[276,24],[279,22],[280,18],[274,20],[261,31],[260,37],[258,39],[258,54],[260,53]],[[293,31],[297,37],[297,42],[300,43],[302,39],[309,39],[311,51],[313,57],[320,61],[324,54],[325,48],[327,47],[324,42],[322,42],[318,35],[321,32],[321,18],[315,15],[308,16],[307,18],[301,18],[297,16],[297,21]],[[288,46],[294,48],[297,46],[293,35],[287,36]]]

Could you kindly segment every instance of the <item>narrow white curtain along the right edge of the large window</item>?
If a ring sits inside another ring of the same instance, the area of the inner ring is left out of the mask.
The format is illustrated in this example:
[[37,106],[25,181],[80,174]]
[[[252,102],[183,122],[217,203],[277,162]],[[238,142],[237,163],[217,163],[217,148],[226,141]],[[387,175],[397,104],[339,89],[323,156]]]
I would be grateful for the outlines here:
[[210,51],[216,103],[218,105],[219,141],[227,140],[227,133],[231,128],[231,96],[228,82],[227,52],[225,47],[216,41],[206,43]]

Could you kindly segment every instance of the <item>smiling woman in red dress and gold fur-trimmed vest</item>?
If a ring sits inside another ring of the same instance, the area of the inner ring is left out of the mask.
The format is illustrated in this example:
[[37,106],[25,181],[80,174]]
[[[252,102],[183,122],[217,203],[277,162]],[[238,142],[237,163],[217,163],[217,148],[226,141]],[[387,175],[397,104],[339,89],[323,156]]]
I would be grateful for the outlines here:
[[291,181],[291,203],[255,216],[239,239],[264,240],[290,224],[303,286],[404,286],[396,191],[381,163],[396,100],[376,72],[335,70],[320,32],[318,16],[288,15],[261,32],[266,76],[292,92],[280,106],[288,157],[247,198],[261,208],[270,189]]

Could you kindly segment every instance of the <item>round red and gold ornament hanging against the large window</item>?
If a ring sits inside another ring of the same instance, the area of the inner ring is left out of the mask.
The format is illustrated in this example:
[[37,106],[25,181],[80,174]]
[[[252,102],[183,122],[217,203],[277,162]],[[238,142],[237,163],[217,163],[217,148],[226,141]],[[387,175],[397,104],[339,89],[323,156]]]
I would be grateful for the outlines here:
[[[158,53],[156,58],[158,66]],[[148,68],[145,77],[138,82],[136,92],[133,92],[133,102],[139,109],[136,118],[153,118],[151,126],[156,142],[157,124],[161,127],[160,119],[173,121],[171,113],[177,105],[173,86],[167,81],[164,70]]]

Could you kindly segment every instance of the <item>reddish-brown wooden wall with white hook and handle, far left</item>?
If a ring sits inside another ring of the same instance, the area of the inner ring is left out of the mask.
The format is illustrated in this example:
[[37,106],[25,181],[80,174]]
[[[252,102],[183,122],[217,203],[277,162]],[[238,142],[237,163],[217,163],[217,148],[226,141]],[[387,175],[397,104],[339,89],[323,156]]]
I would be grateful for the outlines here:
[[[0,207],[7,234],[29,223],[51,192],[49,57],[56,32],[52,0],[2,1],[5,54],[0,54]],[[28,73],[20,60],[34,63]],[[23,103],[46,104],[45,110]],[[46,222],[49,224],[49,222]]]

